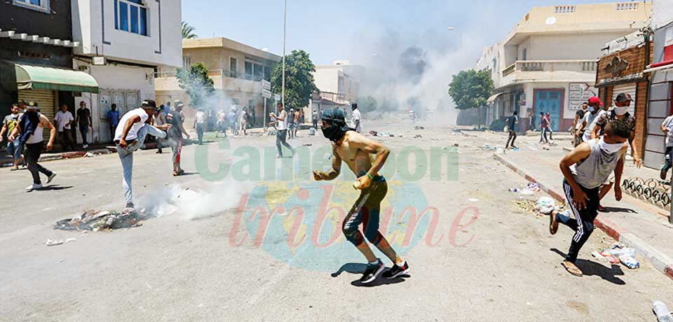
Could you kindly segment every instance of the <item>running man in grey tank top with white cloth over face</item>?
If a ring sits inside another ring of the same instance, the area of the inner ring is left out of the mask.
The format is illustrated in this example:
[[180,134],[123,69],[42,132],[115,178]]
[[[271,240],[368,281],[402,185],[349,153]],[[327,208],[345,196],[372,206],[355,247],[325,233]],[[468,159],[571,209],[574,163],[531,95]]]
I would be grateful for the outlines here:
[[[585,141],[561,160],[561,172],[565,177],[563,188],[575,219],[552,211],[549,232],[556,234],[559,222],[575,230],[566,259],[562,262],[570,274],[582,276],[582,271],[575,265],[577,255],[594,230],[601,186],[611,172],[615,173],[616,182],[621,182],[624,155],[628,148],[625,142],[629,136],[629,125],[623,120],[613,120],[605,126],[603,136]],[[615,199],[622,199],[619,185],[615,185]]]

